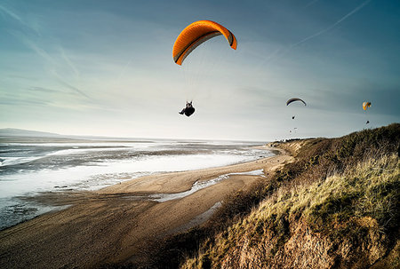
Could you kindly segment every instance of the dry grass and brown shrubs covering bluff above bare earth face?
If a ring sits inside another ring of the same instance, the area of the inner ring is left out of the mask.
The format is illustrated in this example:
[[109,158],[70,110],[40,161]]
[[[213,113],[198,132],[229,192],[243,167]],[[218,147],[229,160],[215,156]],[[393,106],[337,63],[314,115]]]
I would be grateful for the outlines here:
[[244,238],[257,248],[266,233],[275,236],[273,257],[290,238],[290,223],[300,218],[332,241],[363,236],[367,226],[388,233],[392,246],[400,222],[399,133],[400,124],[391,124],[343,138],[301,141],[296,162],[278,170],[264,186],[268,191],[262,192],[260,206],[206,239],[182,268],[218,268]]

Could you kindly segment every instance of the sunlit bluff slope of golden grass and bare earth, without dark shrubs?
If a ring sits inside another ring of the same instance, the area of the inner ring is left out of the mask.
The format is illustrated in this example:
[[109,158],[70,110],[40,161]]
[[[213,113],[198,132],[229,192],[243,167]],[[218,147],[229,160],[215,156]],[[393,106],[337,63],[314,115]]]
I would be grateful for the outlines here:
[[182,267],[372,265],[398,228],[399,164],[397,155],[384,155],[308,186],[280,188]]

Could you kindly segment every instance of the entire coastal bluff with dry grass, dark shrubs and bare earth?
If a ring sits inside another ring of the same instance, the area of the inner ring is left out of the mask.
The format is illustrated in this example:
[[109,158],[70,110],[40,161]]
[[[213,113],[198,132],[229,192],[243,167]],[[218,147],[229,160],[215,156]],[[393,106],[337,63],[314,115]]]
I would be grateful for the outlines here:
[[400,266],[400,124],[273,146],[295,161],[230,195],[207,225],[164,241],[152,266]]

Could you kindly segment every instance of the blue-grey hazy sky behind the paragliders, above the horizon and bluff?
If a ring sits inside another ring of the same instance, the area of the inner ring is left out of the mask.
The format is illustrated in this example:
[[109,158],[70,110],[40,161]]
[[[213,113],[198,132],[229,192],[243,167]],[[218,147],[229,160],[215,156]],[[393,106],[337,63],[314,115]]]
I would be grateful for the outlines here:
[[[196,20],[237,50],[217,36],[176,65]],[[393,0],[0,0],[0,128],[271,141],[399,123],[399,28]]]

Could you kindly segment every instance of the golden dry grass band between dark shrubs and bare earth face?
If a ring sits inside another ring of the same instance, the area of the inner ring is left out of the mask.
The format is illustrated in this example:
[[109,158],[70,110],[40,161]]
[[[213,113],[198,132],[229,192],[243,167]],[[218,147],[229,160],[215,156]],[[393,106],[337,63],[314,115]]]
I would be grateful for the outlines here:
[[[204,268],[204,263],[218,267],[219,261],[230,249],[236,248],[244,236],[257,244],[267,231],[277,237],[273,256],[290,237],[288,222],[296,218],[307,219],[315,232],[326,233],[332,239],[344,236],[342,233],[348,236],[351,231],[346,224],[355,219],[373,220],[370,222],[377,223],[374,228],[381,233],[394,231],[399,223],[396,208],[399,186],[400,162],[398,156],[392,154],[361,162],[310,186],[281,187],[247,218],[220,233],[212,244],[205,242],[197,257],[188,259],[182,268]],[[354,225],[351,228],[355,229]]]

